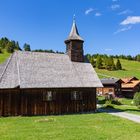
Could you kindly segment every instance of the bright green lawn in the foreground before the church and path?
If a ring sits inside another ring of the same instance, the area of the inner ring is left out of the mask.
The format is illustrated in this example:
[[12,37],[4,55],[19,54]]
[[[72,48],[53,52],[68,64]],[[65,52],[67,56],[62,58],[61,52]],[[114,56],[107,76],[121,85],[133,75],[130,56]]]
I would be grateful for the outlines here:
[[1,140],[139,140],[140,125],[106,113],[0,118]]

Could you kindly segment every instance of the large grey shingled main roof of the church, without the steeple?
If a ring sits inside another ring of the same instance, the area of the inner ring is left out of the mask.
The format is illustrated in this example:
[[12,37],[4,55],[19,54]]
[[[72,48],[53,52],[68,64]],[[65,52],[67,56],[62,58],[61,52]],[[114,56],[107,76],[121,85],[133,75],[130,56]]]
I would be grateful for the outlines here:
[[0,89],[102,87],[90,63],[66,54],[17,51],[0,72]]

